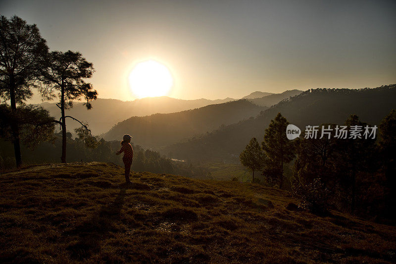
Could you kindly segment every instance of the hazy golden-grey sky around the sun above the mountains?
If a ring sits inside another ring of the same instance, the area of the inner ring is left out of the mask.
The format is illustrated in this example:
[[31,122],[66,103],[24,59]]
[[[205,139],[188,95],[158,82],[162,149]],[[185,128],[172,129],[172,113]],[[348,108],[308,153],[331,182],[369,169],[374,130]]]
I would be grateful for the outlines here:
[[133,100],[127,76],[148,58],[181,99],[396,83],[394,0],[0,0],[0,12],[92,61],[100,98]]

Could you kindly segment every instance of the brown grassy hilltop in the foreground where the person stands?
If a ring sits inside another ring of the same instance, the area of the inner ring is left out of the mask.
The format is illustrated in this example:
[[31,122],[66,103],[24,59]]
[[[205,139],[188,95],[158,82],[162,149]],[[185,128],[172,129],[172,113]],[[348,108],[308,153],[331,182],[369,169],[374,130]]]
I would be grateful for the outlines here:
[[133,173],[112,163],[0,175],[3,263],[392,263],[396,228],[298,211],[257,184]]

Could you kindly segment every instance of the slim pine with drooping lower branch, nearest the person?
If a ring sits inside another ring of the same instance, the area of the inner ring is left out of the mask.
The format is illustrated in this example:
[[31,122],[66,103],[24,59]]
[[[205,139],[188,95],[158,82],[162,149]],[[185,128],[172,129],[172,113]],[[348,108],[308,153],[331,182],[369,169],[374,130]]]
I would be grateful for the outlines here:
[[84,79],[91,78],[93,73],[93,64],[88,62],[81,53],[72,51],[66,53],[51,52],[47,60],[47,67],[43,71],[42,86],[40,87],[43,97],[52,99],[56,97],[55,91],[58,92],[59,103],[56,106],[61,111],[61,117],[59,121],[55,122],[60,124],[62,129],[62,163],[66,162],[67,117],[81,124],[81,128],[77,129],[76,132],[86,140],[86,143],[94,143],[95,141],[92,139],[91,131],[86,123],[65,115],[65,110],[73,107],[73,100],[81,100],[82,97],[86,100],[85,106],[87,109],[92,108],[90,101],[96,100],[98,93]]

